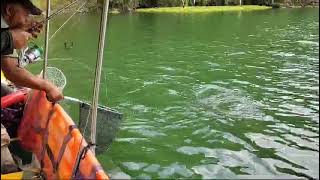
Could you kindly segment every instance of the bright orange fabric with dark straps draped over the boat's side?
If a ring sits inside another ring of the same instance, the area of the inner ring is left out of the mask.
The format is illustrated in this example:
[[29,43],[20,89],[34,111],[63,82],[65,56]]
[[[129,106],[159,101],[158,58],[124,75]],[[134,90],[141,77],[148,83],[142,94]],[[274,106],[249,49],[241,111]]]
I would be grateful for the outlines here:
[[[21,146],[36,155],[46,179],[72,179],[77,156],[87,146],[86,141],[63,108],[47,100],[45,92],[29,94],[18,129]],[[81,159],[74,178],[109,179],[91,150]]]

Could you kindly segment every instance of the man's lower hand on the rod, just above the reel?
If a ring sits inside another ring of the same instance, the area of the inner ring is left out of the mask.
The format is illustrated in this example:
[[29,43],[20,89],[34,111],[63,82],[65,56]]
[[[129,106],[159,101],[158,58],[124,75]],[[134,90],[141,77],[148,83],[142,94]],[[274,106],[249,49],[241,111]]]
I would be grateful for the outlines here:
[[22,29],[11,29],[9,30],[12,39],[13,47],[15,49],[22,49],[27,46],[28,40],[32,38],[32,35]]

